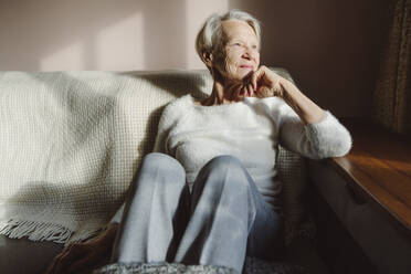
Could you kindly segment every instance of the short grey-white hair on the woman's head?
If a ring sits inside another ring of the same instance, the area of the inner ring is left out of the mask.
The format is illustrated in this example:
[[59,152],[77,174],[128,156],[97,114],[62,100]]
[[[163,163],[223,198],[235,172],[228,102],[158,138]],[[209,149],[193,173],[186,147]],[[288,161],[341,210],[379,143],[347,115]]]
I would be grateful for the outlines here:
[[220,45],[222,39],[221,23],[230,19],[236,19],[246,22],[254,30],[259,42],[261,42],[260,21],[251,14],[240,10],[230,10],[224,14],[214,13],[205,20],[200,32],[197,34],[196,51],[201,60],[203,52],[212,53],[217,49],[217,46]]

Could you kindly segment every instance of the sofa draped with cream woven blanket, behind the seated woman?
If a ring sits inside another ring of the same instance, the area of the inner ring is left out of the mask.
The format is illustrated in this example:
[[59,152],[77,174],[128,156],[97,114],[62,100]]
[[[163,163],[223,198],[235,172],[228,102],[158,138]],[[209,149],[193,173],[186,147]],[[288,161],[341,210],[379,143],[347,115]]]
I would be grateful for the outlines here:
[[[152,149],[165,105],[211,87],[205,70],[0,72],[0,272],[43,273],[70,242],[98,233]],[[268,268],[328,273],[316,252],[306,160],[280,147],[277,162],[286,247]]]

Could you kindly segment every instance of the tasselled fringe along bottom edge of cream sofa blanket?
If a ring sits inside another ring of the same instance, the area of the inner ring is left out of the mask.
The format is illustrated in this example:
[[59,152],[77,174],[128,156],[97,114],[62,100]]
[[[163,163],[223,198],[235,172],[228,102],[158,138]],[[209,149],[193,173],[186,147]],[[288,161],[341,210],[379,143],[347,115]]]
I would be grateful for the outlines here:
[[31,241],[52,241],[55,243],[66,243],[72,235],[72,231],[54,223],[39,221],[22,221],[10,219],[0,223],[0,234],[11,239],[28,236]]

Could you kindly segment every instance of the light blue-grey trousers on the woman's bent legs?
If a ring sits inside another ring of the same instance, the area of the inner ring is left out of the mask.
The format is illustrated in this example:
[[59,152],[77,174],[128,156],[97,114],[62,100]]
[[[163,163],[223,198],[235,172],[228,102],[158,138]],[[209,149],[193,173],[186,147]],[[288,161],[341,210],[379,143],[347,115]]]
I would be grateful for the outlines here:
[[223,265],[242,272],[245,255],[272,259],[282,220],[231,156],[210,160],[192,192],[172,157],[145,157],[130,186],[112,262]]

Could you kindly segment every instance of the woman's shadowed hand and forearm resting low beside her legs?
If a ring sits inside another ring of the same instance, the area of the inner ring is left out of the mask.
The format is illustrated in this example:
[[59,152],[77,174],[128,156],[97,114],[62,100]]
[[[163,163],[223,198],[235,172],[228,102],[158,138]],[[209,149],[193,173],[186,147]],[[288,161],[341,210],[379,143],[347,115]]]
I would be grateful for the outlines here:
[[96,239],[85,243],[70,244],[54,257],[46,274],[78,273],[95,265],[112,252],[117,229],[117,223],[110,223]]

